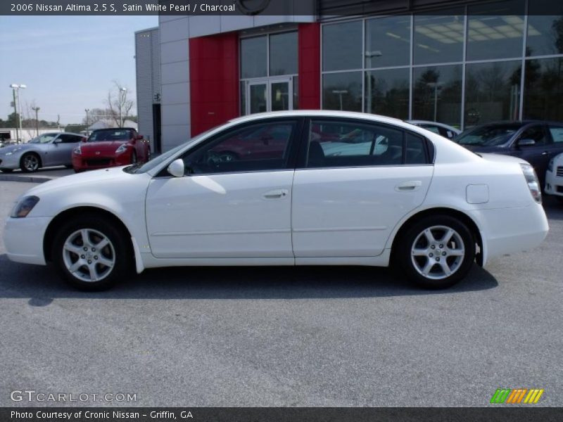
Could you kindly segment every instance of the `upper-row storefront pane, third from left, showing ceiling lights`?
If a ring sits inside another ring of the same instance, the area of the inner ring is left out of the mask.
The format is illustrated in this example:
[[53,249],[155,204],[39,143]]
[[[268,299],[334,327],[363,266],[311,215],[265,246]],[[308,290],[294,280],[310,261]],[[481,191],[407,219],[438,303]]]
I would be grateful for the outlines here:
[[462,8],[443,11],[441,15],[415,15],[414,64],[462,61],[464,28]]

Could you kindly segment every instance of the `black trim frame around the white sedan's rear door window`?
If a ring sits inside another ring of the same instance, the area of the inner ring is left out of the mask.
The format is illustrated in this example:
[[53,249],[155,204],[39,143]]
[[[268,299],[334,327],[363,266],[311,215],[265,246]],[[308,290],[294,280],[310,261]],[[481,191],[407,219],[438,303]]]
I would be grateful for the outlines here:
[[[377,124],[379,126],[383,126],[383,127],[388,127],[389,129],[395,129],[395,130],[400,130],[401,132],[403,132],[403,155],[401,158],[401,164],[400,165],[395,165],[395,164],[389,164],[389,165],[350,165],[350,166],[327,166],[327,167],[307,167],[307,153],[308,153],[308,148],[309,148],[309,134],[310,134],[310,128],[311,128],[311,124],[313,121],[322,121],[322,122],[330,122],[330,121],[334,121],[334,122],[342,122],[343,124],[354,124],[354,123],[358,123],[358,124],[362,124],[362,125],[367,125],[369,126],[370,124]],[[405,144],[406,144],[406,139],[407,136],[406,134],[412,134],[414,136],[418,136],[419,138],[422,138],[423,140],[423,146],[424,146],[424,154],[426,155],[426,164],[405,164],[405,155],[406,155],[406,148],[405,148]],[[374,121],[374,120],[369,120],[369,119],[358,119],[358,118],[353,118],[353,117],[336,117],[336,116],[324,116],[324,115],[318,115],[318,116],[307,116],[306,117],[306,121],[305,124],[303,125],[303,129],[301,130],[301,139],[299,141],[299,151],[298,151],[298,158],[297,158],[297,162],[296,162],[296,170],[322,170],[322,169],[343,169],[343,168],[365,168],[365,167],[413,167],[413,166],[426,166],[426,165],[434,165],[434,162],[436,160],[436,148],[434,147],[434,144],[429,141],[428,138],[426,138],[426,136],[419,134],[417,132],[413,132],[410,129],[406,129],[404,127],[400,127],[400,126],[396,126],[394,124],[389,124],[386,122],[378,122],[378,121]]]

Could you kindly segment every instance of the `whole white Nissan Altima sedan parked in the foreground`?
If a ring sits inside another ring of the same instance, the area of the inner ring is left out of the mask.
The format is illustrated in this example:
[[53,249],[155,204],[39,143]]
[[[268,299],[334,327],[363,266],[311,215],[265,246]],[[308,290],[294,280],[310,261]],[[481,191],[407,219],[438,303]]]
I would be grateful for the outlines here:
[[400,120],[294,111],[232,120],[144,165],[27,191],[8,257],[52,262],[77,288],[129,269],[395,265],[425,288],[548,233],[533,168]]

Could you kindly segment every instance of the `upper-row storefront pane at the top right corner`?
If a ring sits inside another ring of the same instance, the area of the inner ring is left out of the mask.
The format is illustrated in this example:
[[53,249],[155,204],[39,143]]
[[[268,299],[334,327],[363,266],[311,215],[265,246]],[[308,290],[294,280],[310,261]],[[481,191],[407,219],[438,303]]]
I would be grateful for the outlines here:
[[563,54],[563,3],[529,1],[528,13],[526,56]]

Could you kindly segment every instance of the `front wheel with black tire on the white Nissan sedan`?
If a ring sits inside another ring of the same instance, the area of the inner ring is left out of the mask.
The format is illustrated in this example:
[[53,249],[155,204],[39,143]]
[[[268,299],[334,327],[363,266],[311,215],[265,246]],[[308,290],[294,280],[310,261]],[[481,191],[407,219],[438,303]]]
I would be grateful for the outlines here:
[[[83,229],[87,230],[87,243],[83,242],[81,232]],[[97,250],[95,247],[103,238],[106,238],[109,243]],[[65,244],[77,248],[77,252],[80,252],[81,255],[67,250]],[[83,248],[87,248],[84,253],[82,253]],[[52,252],[53,263],[62,278],[70,286],[86,291],[107,290],[112,287],[117,281],[127,276],[133,262],[129,234],[110,219],[96,214],[75,217],[58,229],[53,241]],[[80,265],[79,261],[84,264]],[[111,262],[113,265],[110,267],[103,262]],[[69,269],[72,264],[80,265],[75,269],[74,274]],[[99,275],[99,280],[92,276],[91,268]]]

